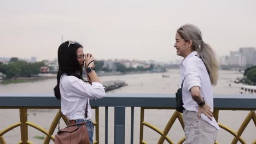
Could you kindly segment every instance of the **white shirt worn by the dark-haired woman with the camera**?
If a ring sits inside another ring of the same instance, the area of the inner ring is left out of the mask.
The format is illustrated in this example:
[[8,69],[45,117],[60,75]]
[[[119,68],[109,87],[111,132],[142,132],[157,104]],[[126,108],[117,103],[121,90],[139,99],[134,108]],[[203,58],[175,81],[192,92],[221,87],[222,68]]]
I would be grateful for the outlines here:
[[[105,97],[101,83],[92,82],[90,85],[75,76],[63,74],[60,80],[61,112],[68,119],[85,119],[86,103],[89,99]],[[92,116],[90,101],[88,101],[88,117]]]

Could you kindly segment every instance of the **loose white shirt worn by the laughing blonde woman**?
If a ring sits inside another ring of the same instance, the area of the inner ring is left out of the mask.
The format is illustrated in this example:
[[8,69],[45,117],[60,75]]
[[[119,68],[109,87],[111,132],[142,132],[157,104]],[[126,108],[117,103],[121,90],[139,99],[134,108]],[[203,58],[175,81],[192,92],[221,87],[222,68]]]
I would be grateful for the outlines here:
[[[181,69],[181,82],[184,83],[182,88],[182,101],[184,103],[183,107],[188,111],[195,111],[198,113],[199,105],[193,100],[190,89],[192,87],[200,87],[201,97],[205,99],[207,105],[211,107],[213,111],[213,94],[210,76],[207,73],[205,64],[202,59],[197,57],[197,52],[191,52],[179,65]],[[212,121],[203,113],[201,118],[213,125],[216,129],[220,129],[218,123],[212,117]]]

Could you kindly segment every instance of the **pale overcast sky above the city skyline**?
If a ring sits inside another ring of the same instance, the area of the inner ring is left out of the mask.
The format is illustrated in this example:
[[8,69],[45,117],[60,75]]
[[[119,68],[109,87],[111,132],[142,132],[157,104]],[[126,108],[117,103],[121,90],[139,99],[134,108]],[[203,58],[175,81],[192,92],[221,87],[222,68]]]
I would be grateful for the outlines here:
[[7,1],[0,2],[0,57],[57,57],[77,40],[97,59],[178,59],[179,26],[198,26],[219,56],[256,46],[256,1]]

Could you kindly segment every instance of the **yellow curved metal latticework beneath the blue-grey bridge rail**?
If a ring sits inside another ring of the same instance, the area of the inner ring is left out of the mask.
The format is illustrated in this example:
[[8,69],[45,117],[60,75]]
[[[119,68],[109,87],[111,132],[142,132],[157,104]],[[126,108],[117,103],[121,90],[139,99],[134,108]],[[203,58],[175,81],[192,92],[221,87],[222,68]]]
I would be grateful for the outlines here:
[[[54,133],[54,130],[56,129],[57,124],[59,123],[60,119],[63,118],[63,120],[65,121],[66,124],[68,122],[68,119],[65,116],[63,116],[61,111],[59,110],[56,113],[56,116],[53,119],[53,122],[51,123],[49,130],[46,130],[45,128],[40,127],[40,125],[37,125],[36,123],[27,121],[27,110],[31,109],[31,108],[32,107],[19,107],[20,122],[12,124],[9,127],[0,131],[0,143],[5,144],[6,142],[4,140],[3,135],[16,127],[20,127],[20,133],[21,133],[21,140],[18,143],[33,143],[30,140],[28,140],[28,126],[34,128],[34,129],[37,129],[37,130],[41,131],[44,135],[46,135],[43,143],[49,143],[50,140],[54,141],[53,133]],[[34,107],[33,107],[33,109],[34,109]],[[36,109],[45,109],[45,107],[36,107]],[[49,109],[49,107],[47,107],[47,109]],[[94,109],[96,111],[96,113],[95,113],[96,122],[94,122],[95,129],[96,129],[96,140],[94,141],[94,143],[96,144],[96,143],[99,143],[99,127],[98,127],[99,109],[98,109],[98,107],[94,107]],[[164,130],[161,130],[161,129],[155,127],[153,124],[150,124],[150,123],[144,121],[144,110],[147,110],[147,109],[153,110],[153,109],[159,109],[159,107],[141,107],[141,122],[140,122],[140,133],[139,133],[140,143],[148,143],[146,140],[143,140],[143,127],[148,127],[160,135],[158,144],[162,144],[162,143],[164,143],[164,141],[167,141],[168,143],[174,143],[170,139],[170,137],[167,136],[167,134],[170,131],[170,129],[172,128],[172,125],[176,121],[176,119],[178,119],[179,123],[181,124],[181,126],[184,130],[182,114],[179,113],[178,111],[175,111],[173,113],[172,117],[169,119],[168,123],[166,124],[166,127],[164,128]],[[164,107],[161,109],[171,109],[171,108]],[[216,118],[217,122],[218,122],[218,118],[219,118],[219,116],[218,116],[219,110],[220,109],[214,109],[214,112],[213,112],[214,118]],[[235,109],[230,109],[230,110],[235,110]],[[218,124],[219,124],[220,128],[228,131],[228,133],[230,133],[231,135],[234,136],[234,139],[232,140],[231,143],[237,143],[238,141],[241,143],[247,143],[244,139],[242,139],[241,135],[243,134],[243,131],[246,129],[248,123],[251,120],[254,122],[255,127],[256,127],[256,114],[255,114],[255,111],[253,111],[253,110],[249,112],[249,114],[247,115],[247,117],[245,118],[243,123],[241,124],[238,131],[232,130],[231,128],[227,127],[226,125],[224,125],[222,123],[218,123]],[[184,141],[184,139],[185,139],[185,137],[183,137],[181,140],[179,140],[178,143],[181,144]],[[218,143],[218,142],[216,142],[216,143]],[[254,140],[253,143],[256,143],[256,140]]]

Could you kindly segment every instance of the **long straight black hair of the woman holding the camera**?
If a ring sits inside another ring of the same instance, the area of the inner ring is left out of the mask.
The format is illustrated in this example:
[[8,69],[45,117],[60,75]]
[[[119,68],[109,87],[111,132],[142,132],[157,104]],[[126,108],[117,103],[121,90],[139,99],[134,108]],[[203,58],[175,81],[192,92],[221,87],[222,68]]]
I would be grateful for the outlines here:
[[61,99],[60,78],[62,74],[73,75],[83,80],[83,69],[77,60],[77,49],[79,47],[83,48],[83,46],[78,43],[69,44],[69,41],[66,41],[62,43],[58,49],[59,70],[57,74],[57,85],[54,87],[54,95],[57,99]]

